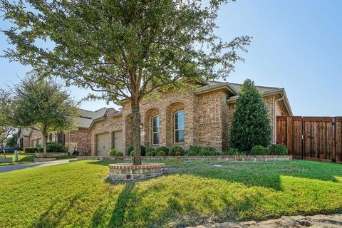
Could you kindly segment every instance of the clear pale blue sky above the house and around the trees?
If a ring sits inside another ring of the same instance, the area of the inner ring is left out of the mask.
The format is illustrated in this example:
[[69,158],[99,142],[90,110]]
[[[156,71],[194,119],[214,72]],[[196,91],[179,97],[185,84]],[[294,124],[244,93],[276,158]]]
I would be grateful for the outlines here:
[[[342,1],[237,0],[222,6],[217,35],[230,41],[253,36],[244,63],[228,81],[252,78],[259,86],[284,87],[294,115],[342,115]],[[9,24],[0,21],[1,28]],[[0,50],[7,48],[0,34]],[[30,68],[0,58],[0,86],[17,83]],[[19,77],[19,78],[18,78]],[[80,100],[89,91],[71,87]],[[96,110],[104,101],[83,102]]]

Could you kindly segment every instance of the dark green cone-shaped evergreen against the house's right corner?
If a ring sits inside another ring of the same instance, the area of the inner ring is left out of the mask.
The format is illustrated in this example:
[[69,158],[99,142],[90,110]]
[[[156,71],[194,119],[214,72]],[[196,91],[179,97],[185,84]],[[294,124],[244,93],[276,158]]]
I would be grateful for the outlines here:
[[268,109],[250,79],[240,88],[229,143],[230,147],[242,151],[250,151],[254,145],[268,146],[271,143]]

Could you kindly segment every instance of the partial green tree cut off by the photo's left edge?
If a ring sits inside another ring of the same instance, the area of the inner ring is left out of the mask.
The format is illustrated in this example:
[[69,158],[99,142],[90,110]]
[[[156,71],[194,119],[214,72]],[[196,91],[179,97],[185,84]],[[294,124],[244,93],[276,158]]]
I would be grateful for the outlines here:
[[11,119],[12,99],[9,91],[0,89],[0,145],[14,133],[14,123]]

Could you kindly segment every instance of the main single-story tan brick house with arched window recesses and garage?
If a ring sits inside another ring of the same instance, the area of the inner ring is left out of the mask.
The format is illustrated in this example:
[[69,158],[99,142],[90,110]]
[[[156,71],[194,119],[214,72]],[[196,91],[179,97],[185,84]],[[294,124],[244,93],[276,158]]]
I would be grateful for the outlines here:
[[[240,84],[202,82],[195,90],[160,92],[160,99],[140,103],[141,142],[146,147],[165,145],[212,146],[217,151],[229,148],[229,129],[239,97]],[[292,115],[284,88],[257,86],[267,108],[275,142],[276,116]],[[113,108],[90,125],[91,155],[108,155],[111,148],[125,152],[133,144],[130,101]]]

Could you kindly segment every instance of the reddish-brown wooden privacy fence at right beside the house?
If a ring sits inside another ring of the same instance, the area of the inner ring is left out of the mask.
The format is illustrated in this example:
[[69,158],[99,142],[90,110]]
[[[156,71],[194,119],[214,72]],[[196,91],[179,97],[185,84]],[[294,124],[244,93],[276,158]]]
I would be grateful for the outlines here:
[[276,142],[295,158],[342,162],[342,117],[278,116]]

